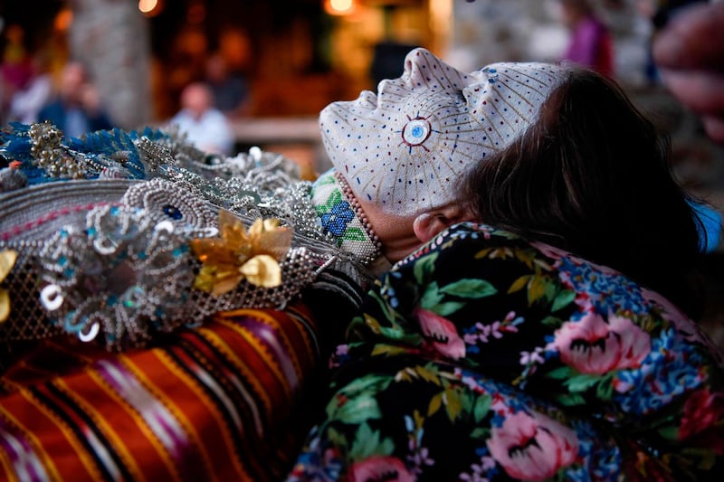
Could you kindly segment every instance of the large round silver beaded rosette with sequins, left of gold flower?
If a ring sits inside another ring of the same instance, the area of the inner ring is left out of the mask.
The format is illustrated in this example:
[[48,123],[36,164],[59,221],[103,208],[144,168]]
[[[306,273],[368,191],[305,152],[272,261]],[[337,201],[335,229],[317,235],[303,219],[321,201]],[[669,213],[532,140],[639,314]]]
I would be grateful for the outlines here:
[[40,252],[41,302],[55,326],[109,348],[142,345],[183,323],[193,282],[186,242],[144,210],[103,206],[85,230],[62,229]]

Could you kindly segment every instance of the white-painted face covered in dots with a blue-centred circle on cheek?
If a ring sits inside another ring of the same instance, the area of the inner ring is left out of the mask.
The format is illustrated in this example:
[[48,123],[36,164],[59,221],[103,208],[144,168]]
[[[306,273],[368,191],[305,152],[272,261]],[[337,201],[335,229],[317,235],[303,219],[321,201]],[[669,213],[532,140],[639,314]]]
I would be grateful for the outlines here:
[[322,110],[330,160],[360,200],[406,216],[454,201],[453,183],[538,118],[565,78],[544,63],[497,63],[462,73],[431,52],[407,54],[399,79],[382,80]]

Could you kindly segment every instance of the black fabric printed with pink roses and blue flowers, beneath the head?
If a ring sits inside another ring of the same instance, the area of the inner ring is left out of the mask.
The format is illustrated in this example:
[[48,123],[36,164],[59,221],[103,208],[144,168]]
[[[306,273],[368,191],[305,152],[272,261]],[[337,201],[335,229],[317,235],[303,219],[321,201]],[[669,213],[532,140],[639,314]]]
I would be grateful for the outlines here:
[[613,269],[463,223],[370,291],[296,480],[686,480],[720,468],[719,354]]

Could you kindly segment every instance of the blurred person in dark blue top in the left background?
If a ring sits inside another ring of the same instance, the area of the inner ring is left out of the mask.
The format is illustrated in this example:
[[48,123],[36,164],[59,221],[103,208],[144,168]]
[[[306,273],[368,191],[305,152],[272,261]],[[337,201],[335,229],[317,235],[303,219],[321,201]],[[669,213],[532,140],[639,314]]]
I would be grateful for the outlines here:
[[38,121],[43,120],[52,122],[69,137],[113,128],[98,90],[79,61],[63,66],[57,93],[38,112]]

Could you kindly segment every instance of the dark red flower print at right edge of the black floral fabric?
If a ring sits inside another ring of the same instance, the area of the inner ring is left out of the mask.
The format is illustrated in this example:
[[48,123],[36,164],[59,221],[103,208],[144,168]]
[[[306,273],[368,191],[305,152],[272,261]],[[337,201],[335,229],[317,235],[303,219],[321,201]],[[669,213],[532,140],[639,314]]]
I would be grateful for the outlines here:
[[709,389],[691,393],[684,405],[679,439],[724,455],[724,393]]

